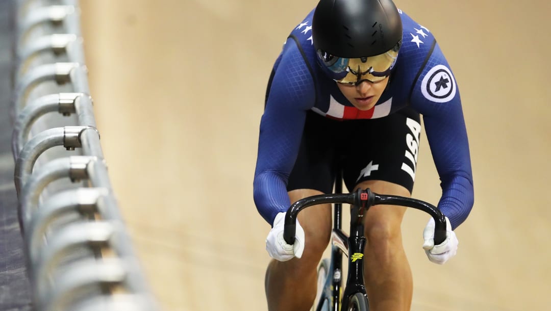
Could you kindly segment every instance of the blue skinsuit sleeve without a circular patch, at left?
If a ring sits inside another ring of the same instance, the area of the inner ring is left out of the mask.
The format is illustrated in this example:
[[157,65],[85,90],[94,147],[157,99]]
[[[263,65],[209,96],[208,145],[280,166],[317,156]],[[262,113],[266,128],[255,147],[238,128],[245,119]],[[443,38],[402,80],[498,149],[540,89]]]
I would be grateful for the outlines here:
[[292,38],[274,70],[260,122],[253,182],[257,210],[271,225],[278,212],[290,206],[287,181],[298,155],[306,111],[316,97],[311,68]]

